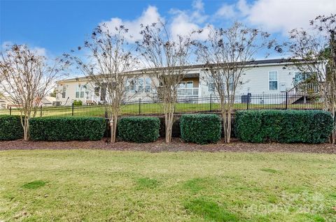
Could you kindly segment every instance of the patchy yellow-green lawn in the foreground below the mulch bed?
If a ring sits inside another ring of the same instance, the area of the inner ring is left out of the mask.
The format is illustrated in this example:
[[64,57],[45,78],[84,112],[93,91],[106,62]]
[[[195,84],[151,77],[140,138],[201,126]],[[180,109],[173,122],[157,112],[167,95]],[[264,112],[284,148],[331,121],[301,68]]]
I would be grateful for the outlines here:
[[328,154],[0,151],[0,221],[335,221]]

